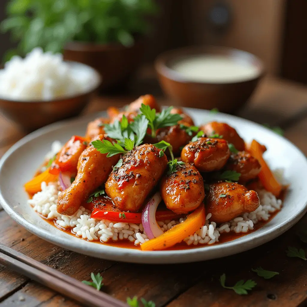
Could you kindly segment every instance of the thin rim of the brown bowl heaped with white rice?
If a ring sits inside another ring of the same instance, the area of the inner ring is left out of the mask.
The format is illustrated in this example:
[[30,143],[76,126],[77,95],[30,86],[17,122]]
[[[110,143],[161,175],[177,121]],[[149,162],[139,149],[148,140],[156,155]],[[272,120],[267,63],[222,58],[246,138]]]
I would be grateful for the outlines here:
[[13,99],[7,99],[5,97],[1,97],[0,96],[0,100],[1,101],[7,101],[7,102],[12,102],[12,103],[58,103],[58,102],[63,102],[69,99],[75,99],[75,98],[80,98],[86,95],[89,95],[91,93],[94,93],[95,91],[98,90],[98,88],[100,87],[101,83],[102,83],[102,77],[100,75],[100,73],[93,67],[80,63],[80,62],[76,62],[76,61],[64,61],[70,64],[77,64],[77,65],[81,65],[81,66],[85,66],[90,68],[94,74],[95,77],[97,78],[97,84],[95,87],[91,87],[88,91],[84,92],[84,93],[78,93],[78,95],[70,95],[70,96],[64,96],[64,97],[59,97],[57,99],[52,99],[52,100],[13,100]]

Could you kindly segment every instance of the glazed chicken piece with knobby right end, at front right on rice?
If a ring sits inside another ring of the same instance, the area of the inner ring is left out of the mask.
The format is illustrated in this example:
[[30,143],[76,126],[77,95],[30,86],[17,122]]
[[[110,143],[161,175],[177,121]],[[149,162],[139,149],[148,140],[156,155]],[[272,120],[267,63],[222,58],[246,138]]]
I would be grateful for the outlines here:
[[247,191],[238,183],[215,183],[210,185],[206,212],[211,213],[211,221],[224,223],[245,212],[255,211],[260,204],[257,192]]

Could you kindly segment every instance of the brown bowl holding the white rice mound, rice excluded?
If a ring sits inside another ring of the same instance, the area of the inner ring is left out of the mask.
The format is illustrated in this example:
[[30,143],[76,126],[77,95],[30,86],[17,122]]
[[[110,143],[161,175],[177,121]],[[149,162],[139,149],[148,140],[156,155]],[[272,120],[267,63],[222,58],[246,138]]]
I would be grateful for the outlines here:
[[93,83],[87,92],[44,101],[17,101],[0,98],[1,112],[26,132],[79,115],[98,90],[101,77],[95,69],[87,65],[75,62],[71,62],[71,65],[74,65],[75,68],[91,70],[93,73]]

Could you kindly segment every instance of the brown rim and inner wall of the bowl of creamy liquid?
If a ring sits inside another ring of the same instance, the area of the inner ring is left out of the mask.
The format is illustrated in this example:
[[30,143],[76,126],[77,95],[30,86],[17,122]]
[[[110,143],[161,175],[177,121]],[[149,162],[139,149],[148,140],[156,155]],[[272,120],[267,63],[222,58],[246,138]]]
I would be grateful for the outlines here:
[[[258,73],[255,77],[249,78],[246,80],[238,80],[233,82],[196,82],[191,81],[182,76],[180,73],[174,71],[170,68],[167,63],[170,60],[175,60],[176,58],[181,58],[187,55],[197,55],[197,54],[221,54],[221,55],[228,55],[230,57],[234,57],[235,55],[240,54],[243,55],[247,60],[251,61],[251,64],[258,68]],[[185,84],[211,84],[211,85],[225,85],[225,84],[238,84],[238,83],[245,83],[250,82],[253,80],[260,79],[265,74],[265,68],[262,60],[255,56],[254,54],[230,47],[223,47],[223,46],[190,46],[184,47],[179,49],[173,49],[166,52],[161,53],[157,56],[154,62],[155,69],[158,74],[165,76],[166,78]]]

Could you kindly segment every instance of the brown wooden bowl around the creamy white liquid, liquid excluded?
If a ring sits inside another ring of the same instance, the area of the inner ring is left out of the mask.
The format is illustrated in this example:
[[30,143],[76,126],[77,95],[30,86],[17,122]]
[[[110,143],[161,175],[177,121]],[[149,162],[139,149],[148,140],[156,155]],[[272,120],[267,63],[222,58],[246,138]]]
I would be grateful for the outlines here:
[[[226,56],[254,66],[257,73],[251,79],[239,82],[209,83],[189,81],[172,69],[172,65],[178,60],[195,55]],[[262,61],[251,53],[215,46],[188,47],[162,53],[155,61],[155,69],[163,91],[178,105],[208,110],[218,108],[227,113],[236,111],[246,103],[264,75]]]

